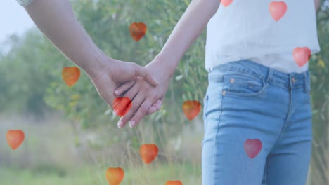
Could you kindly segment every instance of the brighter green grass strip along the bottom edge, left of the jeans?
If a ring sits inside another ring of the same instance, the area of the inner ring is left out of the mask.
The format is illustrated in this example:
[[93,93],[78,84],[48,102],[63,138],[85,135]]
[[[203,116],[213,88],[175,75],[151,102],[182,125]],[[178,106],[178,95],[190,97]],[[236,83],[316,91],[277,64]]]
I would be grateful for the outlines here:
[[[66,169],[65,175],[58,175],[56,170],[41,172],[0,168],[1,185],[91,185],[108,184],[105,170],[96,167],[73,167]],[[135,169],[124,169],[124,179],[120,185],[164,185],[168,180],[180,180],[183,184],[201,184],[200,165],[191,163],[167,165],[143,165]]]

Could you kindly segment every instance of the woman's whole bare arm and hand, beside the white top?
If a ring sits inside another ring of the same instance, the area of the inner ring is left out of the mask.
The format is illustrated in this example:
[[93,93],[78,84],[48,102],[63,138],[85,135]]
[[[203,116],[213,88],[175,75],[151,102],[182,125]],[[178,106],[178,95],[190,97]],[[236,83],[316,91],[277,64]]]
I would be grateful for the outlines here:
[[[159,55],[146,66],[150,73],[157,78],[159,85],[154,88],[146,81],[136,81],[135,85],[124,94],[132,100],[132,106],[128,113],[120,118],[119,128],[126,125],[129,120],[131,120],[129,125],[134,127],[146,116],[146,112],[152,104],[163,99],[170,78],[172,78],[181,57],[205,29],[218,8],[219,0],[193,0],[191,2]],[[123,85],[117,89],[118,92],[115,95],[121,95],[128,88],[129,85]],[[127,106],[123,105],[123,107]]]

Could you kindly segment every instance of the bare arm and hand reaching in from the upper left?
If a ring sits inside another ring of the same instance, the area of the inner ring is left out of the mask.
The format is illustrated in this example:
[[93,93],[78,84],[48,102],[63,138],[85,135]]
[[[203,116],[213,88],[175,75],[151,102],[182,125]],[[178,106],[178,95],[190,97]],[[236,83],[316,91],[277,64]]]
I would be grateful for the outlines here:
[[[103,53],[77,21],[68,0],[17,0],[34,23],[72,62],[86,71],[98,94],[111,107],[113,90],[136,76],[157,85],[148,69],[133,62],[114,60]],[[124,74],[124,75],[122,75]]]

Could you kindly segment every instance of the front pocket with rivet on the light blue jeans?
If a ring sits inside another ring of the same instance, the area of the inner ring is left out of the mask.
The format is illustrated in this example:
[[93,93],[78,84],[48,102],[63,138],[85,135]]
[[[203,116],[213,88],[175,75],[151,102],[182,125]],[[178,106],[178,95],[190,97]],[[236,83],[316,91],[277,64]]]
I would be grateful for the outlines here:
[[252,97],[264,93],[264,79],[240,71],[226,71],[223,95]]

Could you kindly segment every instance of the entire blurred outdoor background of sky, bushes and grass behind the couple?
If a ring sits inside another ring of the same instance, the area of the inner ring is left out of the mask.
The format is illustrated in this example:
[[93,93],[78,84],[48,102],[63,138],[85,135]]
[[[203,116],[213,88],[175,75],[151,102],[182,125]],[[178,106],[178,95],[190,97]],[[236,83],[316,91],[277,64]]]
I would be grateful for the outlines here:
[[[72,6],[93,41],[110,57],[146,65],[160,51],[188,0],[76,0]],[[329,184],[329,2],[318,11],[321,53],[309,61],[313,107],[313,151],[308,184]],[[202,111],[183,115],[185,100],[199,100],[207,88],[205,32],[176,69],[162,110],[137,128],[118,130],[118,118],[101,100],[89,77],[67,87],[63,67],[74,66],[34,27],[15,1],[0,6],[0,184],[108,184],[108,167],[122,167],[123,185],[201,184]],[[146,36],[134,41],[131,22],[144,22]],[[25,132],[13,151],[8,130]],[[141,144],[157,144],[146,165]]]

